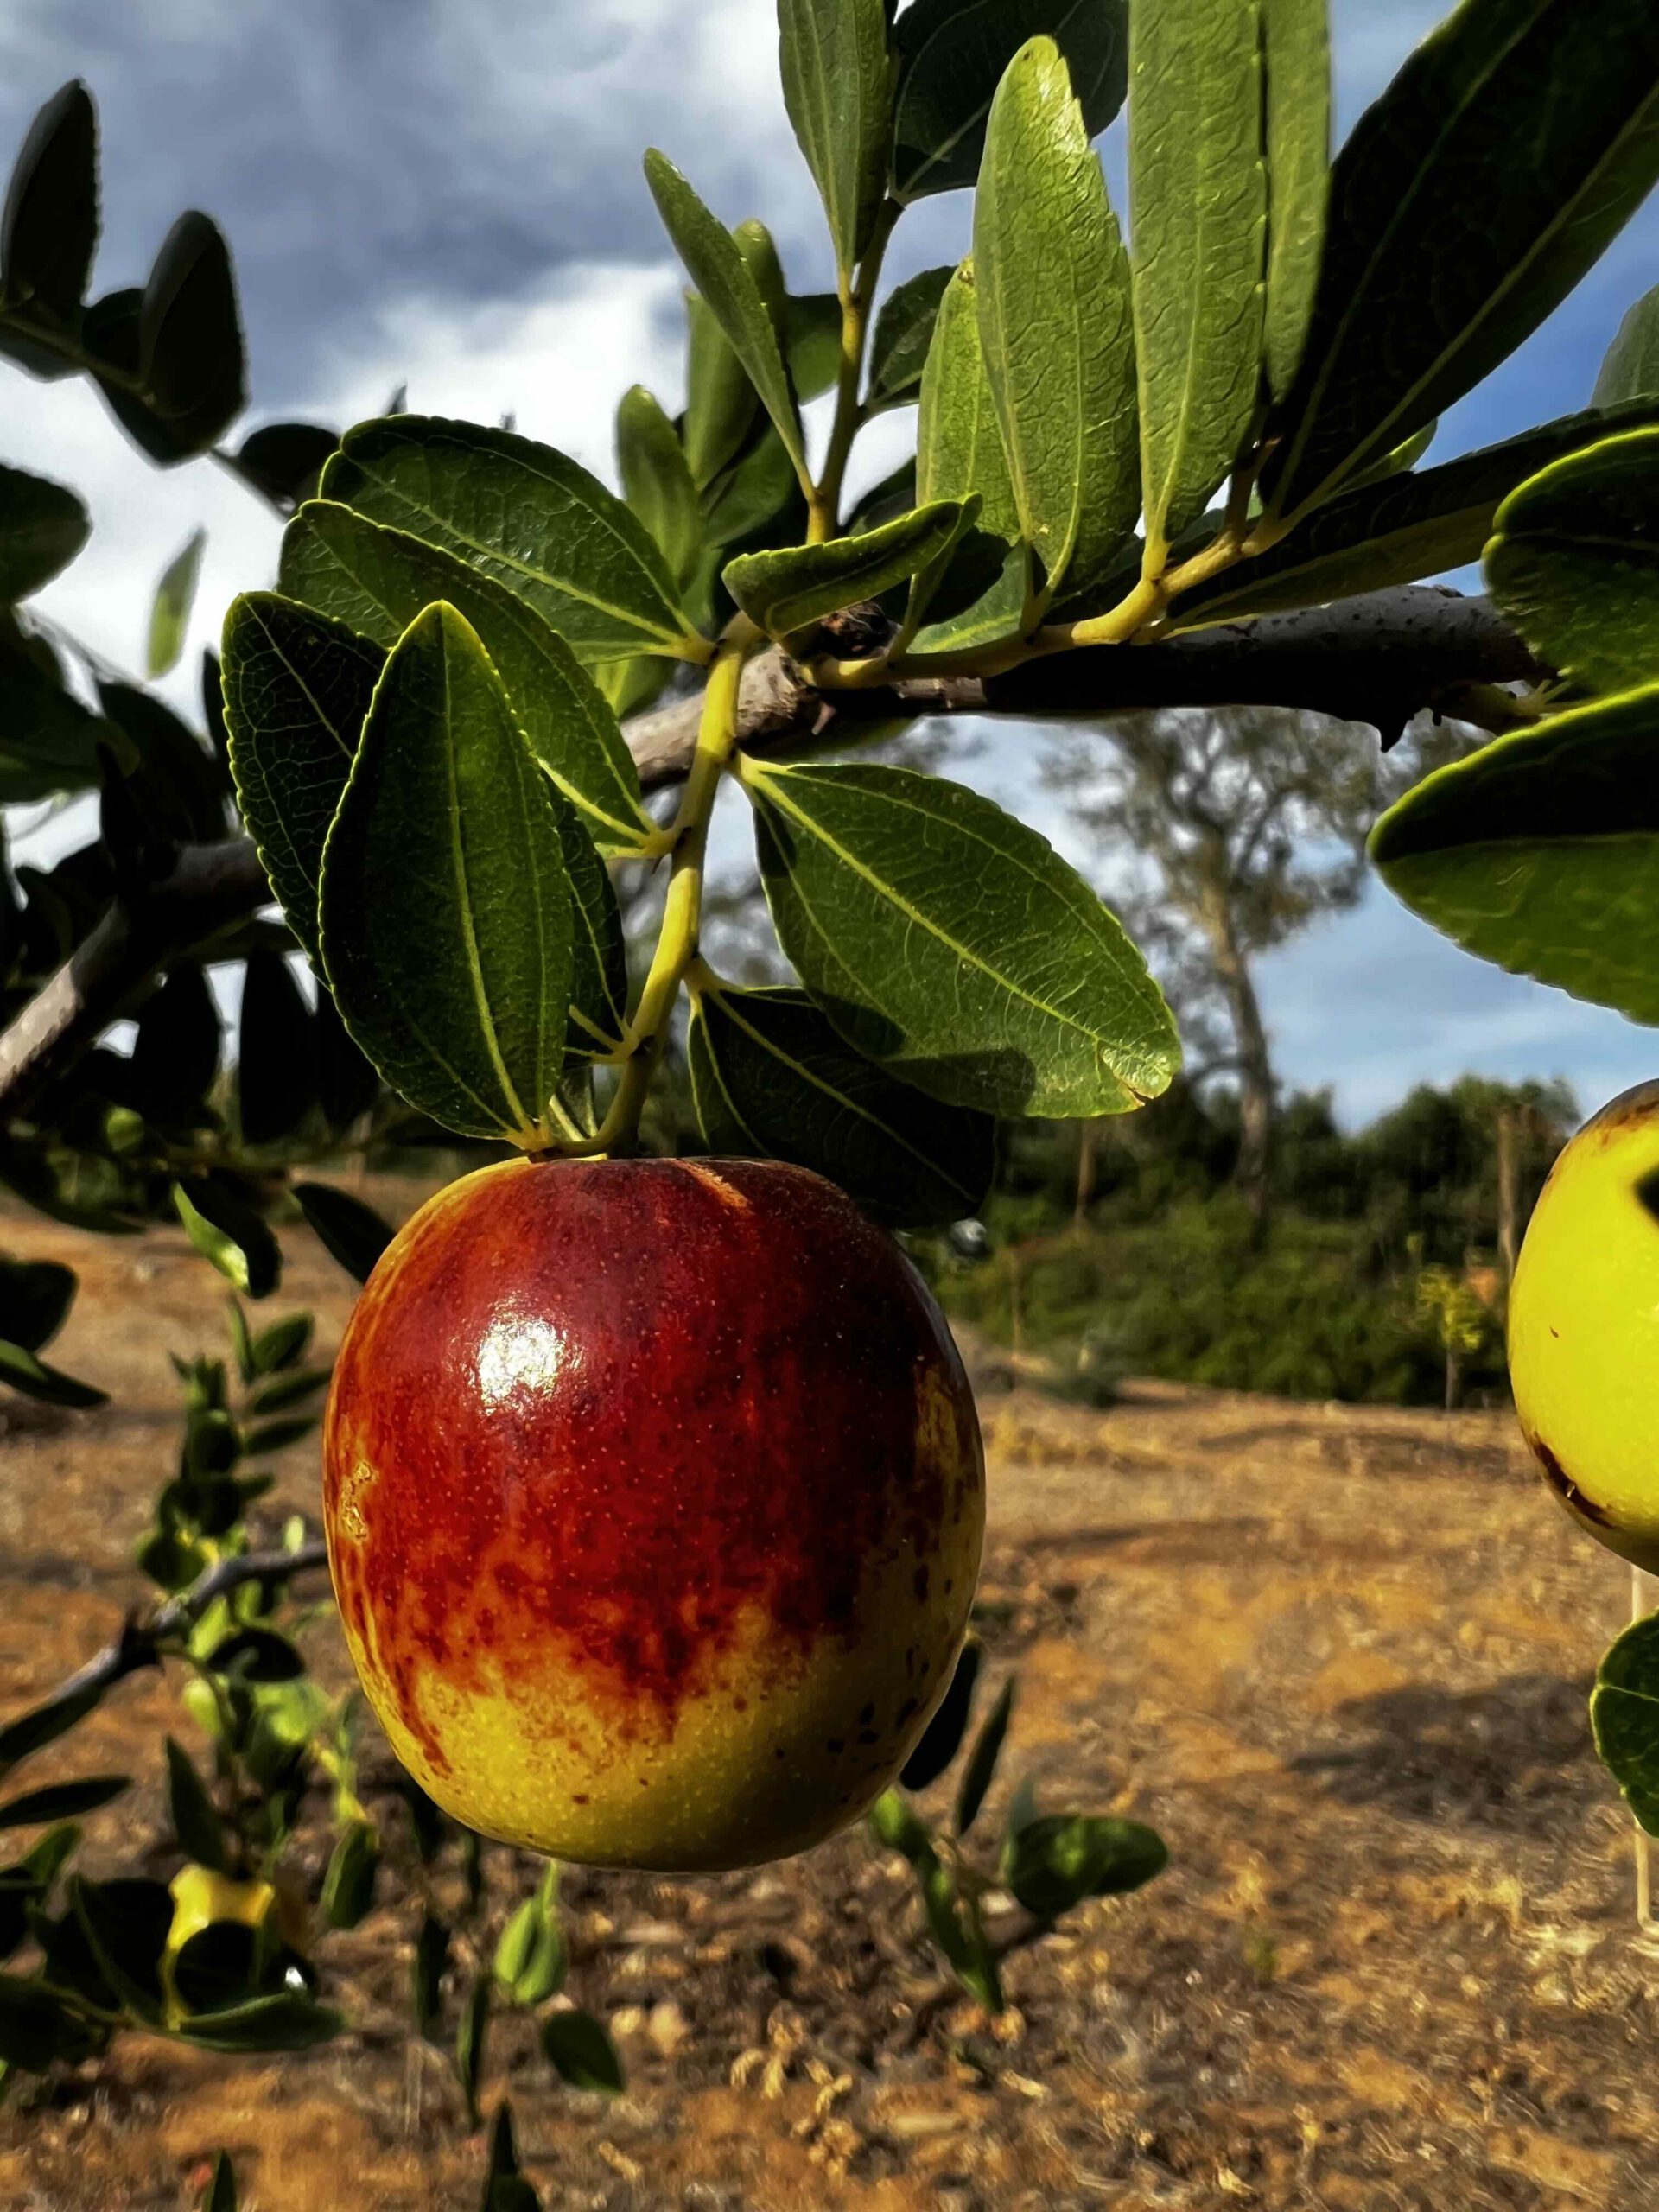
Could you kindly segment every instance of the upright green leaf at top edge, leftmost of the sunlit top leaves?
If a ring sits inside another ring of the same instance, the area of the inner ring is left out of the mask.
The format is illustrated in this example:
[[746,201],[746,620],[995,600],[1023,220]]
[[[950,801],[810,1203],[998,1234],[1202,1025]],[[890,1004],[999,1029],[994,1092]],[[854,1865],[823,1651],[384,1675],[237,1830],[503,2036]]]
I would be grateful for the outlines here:
[[836,265],[852,274],[887,197],[894,55],[885,0],[779,0],[779,62]]

